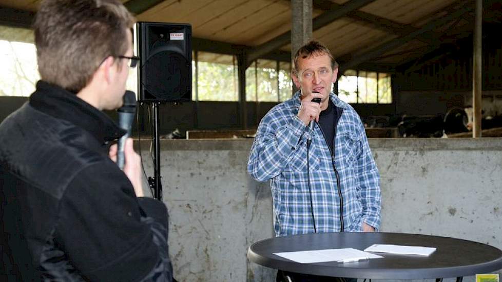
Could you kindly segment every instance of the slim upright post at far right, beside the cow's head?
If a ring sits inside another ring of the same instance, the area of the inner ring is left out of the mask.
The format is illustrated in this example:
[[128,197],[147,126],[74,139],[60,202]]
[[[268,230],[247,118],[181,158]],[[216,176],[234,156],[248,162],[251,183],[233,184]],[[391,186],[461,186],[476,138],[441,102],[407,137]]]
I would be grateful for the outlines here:
[[481,25],[483,21],[483,2],[476,0],[476,19],[474,27],[474,54],[473,54],[473,74],[472,74],[472,109],[473,109],[473,131],[472,137],[481,137]]

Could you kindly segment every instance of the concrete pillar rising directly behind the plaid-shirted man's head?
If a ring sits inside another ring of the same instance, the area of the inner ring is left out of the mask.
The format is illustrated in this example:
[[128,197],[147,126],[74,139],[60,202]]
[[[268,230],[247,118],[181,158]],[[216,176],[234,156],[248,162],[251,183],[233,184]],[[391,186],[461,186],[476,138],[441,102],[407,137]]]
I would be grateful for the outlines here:
[[[291,61],[302,45],[312,40],[312,0],[291,0]],[[298,89],[293,84],[293,94]]]

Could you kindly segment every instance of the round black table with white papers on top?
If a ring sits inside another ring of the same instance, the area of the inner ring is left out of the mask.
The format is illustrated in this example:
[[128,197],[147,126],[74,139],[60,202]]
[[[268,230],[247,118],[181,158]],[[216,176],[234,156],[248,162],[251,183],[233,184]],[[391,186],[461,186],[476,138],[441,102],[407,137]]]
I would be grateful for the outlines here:
[[[354,263],[300,264],[274,255],[279,252],[354,248],[373,244],[437,248],[430,256],[375,253],[384,258]],[[247,257],[262,266],[303,274],[373,279],[462,277],[502,269],[502,251],[474,241],[418,234],[343,232],[269,238],[251,245]],[[457,278],[461,280],[461,278]]]

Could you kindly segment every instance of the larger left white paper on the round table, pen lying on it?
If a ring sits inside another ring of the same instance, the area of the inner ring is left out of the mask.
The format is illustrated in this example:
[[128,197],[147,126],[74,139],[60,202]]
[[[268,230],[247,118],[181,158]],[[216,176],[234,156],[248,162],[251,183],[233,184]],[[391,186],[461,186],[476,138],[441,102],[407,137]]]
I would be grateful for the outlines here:
[[379,256],[372,253],[363,252],[353,248],[346,249],[326,249],[326,250],[313,250],[313,251],[300,251],[300,252],[282,252],[273,253],[275,255],[296,261],[300,264],[313,264],[323,263],[325,261],[338,261],[343,260],[364,260],[369,258],[379,258]]

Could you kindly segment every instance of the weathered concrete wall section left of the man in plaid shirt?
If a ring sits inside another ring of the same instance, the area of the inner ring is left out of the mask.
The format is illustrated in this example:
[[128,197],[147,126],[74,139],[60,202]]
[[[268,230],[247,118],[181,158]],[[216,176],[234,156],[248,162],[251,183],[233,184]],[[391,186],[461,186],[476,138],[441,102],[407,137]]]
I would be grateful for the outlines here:
[[250,244],[273,236],[268,183],[246,173],[250,140],[166,140],[161,147],[176,279],[272,281],[273,270],[246,258]]

